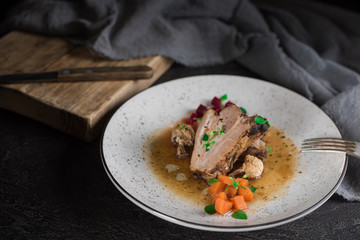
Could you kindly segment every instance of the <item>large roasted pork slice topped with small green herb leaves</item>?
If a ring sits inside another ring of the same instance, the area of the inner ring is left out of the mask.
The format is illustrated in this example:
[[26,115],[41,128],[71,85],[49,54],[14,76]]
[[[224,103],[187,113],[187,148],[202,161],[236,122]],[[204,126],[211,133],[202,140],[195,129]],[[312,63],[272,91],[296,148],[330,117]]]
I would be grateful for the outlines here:
[[[249,136],[252,125],[251,119],[234,104],[219,115],[212,109],[207,110],[196,131],[190,170],[205,180],[226,175],[238,157],[261,137],[261,133]],[[209,136],[208,141],[204,140],[205,134]],[[211,134],[215,135],[213,139]],[[208,149],[206,143],[210,144]]]

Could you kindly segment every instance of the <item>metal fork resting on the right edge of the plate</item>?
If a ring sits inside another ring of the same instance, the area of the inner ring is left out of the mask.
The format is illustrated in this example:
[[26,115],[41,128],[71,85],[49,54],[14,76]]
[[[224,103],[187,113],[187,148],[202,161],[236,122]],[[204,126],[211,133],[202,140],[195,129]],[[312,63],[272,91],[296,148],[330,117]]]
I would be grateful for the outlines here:
[[301,145],[301,152],[345,152],[360,158],[360,143],[341,138],[309,138]]

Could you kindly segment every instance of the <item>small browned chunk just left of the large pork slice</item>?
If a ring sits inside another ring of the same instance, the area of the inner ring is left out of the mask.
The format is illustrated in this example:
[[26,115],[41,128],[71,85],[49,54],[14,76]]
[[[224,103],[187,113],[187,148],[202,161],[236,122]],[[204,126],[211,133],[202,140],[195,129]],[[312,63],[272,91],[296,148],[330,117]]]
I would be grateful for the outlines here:
[[176,157],[186,158],[189,156],[191,147],[194,145],[195,132],[190,125],[177,125],[171,133],[171,142],[177,146]]

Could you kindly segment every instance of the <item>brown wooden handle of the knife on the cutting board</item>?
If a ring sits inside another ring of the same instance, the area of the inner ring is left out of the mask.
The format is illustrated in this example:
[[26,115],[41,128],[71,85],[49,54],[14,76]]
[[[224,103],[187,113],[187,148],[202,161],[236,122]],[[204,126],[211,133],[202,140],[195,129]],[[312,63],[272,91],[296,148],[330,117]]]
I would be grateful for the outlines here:
[[149,79],[153,69],[146,65],[128,67],[66,68],[58,71],[58,81],[108,81]]

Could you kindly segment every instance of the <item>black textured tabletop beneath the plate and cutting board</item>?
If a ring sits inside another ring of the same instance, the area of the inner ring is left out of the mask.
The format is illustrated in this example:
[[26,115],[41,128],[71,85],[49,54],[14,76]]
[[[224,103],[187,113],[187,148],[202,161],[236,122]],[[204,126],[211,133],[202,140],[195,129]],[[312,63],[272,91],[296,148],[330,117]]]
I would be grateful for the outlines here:
[[[174,65],[158,83],[203,74],[258,77],[235,63]],[[113,186],[100,137],[82,142],[0,109],[0,239],[360,239],[360,202],[334,195],[295,222],[246,233],[181,227],[135,206]]]

